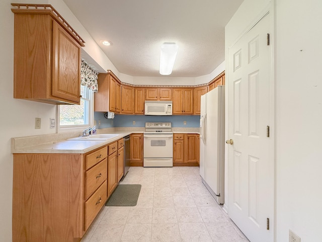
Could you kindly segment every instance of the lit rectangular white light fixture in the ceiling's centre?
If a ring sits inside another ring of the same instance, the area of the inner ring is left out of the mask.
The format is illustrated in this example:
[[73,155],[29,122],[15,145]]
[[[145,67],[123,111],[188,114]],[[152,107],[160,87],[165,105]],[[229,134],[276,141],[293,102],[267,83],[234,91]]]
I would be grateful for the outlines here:
[[160,51],[160,74],[170,75],[176,61],[178,53],[178,44],[176,43],[163,43]]

